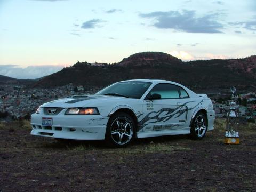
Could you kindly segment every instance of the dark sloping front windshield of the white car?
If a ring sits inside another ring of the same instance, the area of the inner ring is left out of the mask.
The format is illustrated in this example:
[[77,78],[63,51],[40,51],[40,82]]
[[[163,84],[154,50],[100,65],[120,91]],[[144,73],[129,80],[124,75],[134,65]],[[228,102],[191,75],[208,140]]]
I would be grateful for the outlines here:
[[96,94],[140,99],[151,84],[139,81],[118,82],[105,87]]

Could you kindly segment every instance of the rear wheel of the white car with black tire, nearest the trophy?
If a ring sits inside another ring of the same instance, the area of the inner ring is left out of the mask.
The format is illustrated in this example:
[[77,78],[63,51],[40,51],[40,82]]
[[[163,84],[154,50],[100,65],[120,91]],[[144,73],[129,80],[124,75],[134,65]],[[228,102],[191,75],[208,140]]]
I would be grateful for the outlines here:
[[192,139],[203,139],[207,131],[205,114],[199,112],[191,123],[190,136]]

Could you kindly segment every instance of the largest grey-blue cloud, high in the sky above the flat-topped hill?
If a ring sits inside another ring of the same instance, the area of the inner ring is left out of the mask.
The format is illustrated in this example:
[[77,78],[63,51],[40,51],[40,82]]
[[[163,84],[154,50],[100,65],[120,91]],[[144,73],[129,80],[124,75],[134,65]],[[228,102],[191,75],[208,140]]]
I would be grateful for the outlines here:
[[220,13],[196,17],[195,11],[183,10],[168,12],[141,13],[140,17],[153,18],[153,26],[159,29],[174,29],[187,33],[222,33],[223,25],[217,21]]

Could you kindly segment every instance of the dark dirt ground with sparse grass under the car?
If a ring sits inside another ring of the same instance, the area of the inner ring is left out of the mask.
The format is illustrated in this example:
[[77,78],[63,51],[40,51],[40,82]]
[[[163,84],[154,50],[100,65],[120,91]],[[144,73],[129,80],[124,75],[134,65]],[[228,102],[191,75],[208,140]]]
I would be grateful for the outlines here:
[[1,124],[0,191],[255,191],[256,125],[242,125],[235,146],[223,144],[223,123],[203,140],[138,139],[123,149]]

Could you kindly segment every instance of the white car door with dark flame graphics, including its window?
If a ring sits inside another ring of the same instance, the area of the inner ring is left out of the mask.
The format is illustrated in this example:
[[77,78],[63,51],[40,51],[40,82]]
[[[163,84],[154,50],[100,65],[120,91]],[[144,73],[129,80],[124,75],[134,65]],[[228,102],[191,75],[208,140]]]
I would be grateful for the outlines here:
[[[159,94],[160,98],[151,99]],[[184,127],[188,107],[186,98],[181,99],[179,87],[159,83],[153,87],[143,101],[143,114],[139,117],[141,131],[177,130]]]

